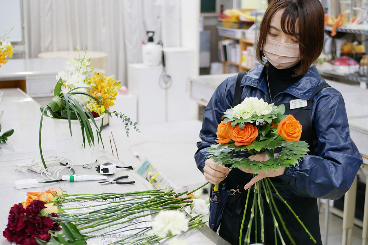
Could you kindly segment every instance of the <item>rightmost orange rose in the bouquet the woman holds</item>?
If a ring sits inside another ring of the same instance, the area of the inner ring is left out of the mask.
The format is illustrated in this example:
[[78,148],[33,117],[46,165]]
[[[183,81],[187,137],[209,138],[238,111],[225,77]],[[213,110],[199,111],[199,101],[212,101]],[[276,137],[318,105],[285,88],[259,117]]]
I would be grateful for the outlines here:
[[293,115],[289,115],[277,126],[277,134],[281,134],[287,141],[298,141],[301,136],[301,124]]

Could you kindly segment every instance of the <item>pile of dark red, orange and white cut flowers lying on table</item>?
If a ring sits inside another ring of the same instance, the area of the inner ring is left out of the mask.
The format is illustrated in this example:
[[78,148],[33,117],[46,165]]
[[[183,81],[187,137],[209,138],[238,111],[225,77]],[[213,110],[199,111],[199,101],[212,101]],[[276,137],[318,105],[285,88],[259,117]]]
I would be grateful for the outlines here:
[[205,224],[203,216],[187,219],[180,211],[191,205],[192,192],[68,195],[60,188],[27,192],[26,201],[11,208],[3,235],[21,245],[86,245],[87,240],[89,244],[151,245],[167,237],[169,245],[186,244],[174,236]]

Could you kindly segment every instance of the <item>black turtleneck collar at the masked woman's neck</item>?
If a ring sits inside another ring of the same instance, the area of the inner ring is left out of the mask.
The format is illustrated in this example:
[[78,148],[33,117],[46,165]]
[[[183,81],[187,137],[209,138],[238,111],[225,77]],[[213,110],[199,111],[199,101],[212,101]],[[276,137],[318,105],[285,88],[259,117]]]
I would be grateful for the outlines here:
[[[269,88],[270,90],[271,100],[273,100],[276,94],[285,91],[300,79],[301,76],[293,76],[295,75],[294,69],[300,65],[301,62],[287,69],[277,69],[270,62],[267,63],[266,69],[263,70],[263,77],[265,78],[267,89]],[[270,83],[267,79],[267,73]]]

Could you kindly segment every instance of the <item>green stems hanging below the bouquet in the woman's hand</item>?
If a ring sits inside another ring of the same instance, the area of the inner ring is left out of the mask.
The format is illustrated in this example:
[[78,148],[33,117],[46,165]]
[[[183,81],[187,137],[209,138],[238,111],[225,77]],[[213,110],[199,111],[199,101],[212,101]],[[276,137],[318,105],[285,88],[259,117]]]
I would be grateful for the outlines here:
[[[271,188],[272,186],[272,188]],[[263,214],[264,212],[264,206],[263,206],[263,199],[262,199],[262,195],[261,195],[261,187],[264,190],[264,194],[266,197],[266,202],[267,205],[269,206],[271,215],[272,215],[272,219],[273,219],[273,227],[274,227],[274,234],[275,234],[275,244],[277,244],[277,237],[280,238],[281,244],[285,245],[285,241],[282,237],[281,234],[281,230],[280,230],[280,226],[279,226],[279,222],[276,219],[276,215],[279,218],[279,221],[281,223],[282,228],[284,229],[287,237],[289,238],[291,244],[296,245],[293,237],[291,237],[289,230],[287,230],[287,227],[285,225],[285,222],[279,212],[279,209],[276,206],[275,203],[275,199],[273,199],[272,196],[272,192],[274,191],[277,195],[277,197],[280,198],[280,200],[287,206],[287,208],[291,211],[291,213],[293,213],[293,215],[295,216],[295,218],[298,220],[298,222],[301,224],[301,226],[304,228],[305,232],[307,232],[307,234],[309,235],[309,237],[312,239],[312,241],[314,243],[316,243],[316,240],[314,239],[314,237],[311,235],[311,233],[308,231],[307,227],[304,226],[304,224],[302,223],[302,221],[299,219],[299,217],[296,215],[296,213],[293,211],[293,209],[291,209],[290,205],[281,197],[281,195],[279,194],[279,192],[276,190],[275,186],[273,185],[273,183],[271,182],[271,180],[269,178],[265,178],[262,179],[261,181],[258,181],[255,183],[254,186],[254,197],[253,197],[253,202],[252,202],[252,206],[251,206],[251,210],[250,210],[250,219],[249,219],[249,223],[247,225],[247,231],[245,232],[245,238],[244,238],[244,244],[250,244],[250,237],[251,237],[251,231],[252,231],[252,223],[254,220],[254,234],[255,234],[255,242],[257,242],[258,239],[258,226],[257,226],[257,218],[254,219],[254,216],[257,216],[257,213],[259,212],[259,217],[260,217],[260,221],[261,221],[261,241],[263,244],[265,242],[265,234],[264,234],[264,225],[265,225],[265,221],[264,221],[264,216]],[[242,244],[242,235],[243,235],[243,227],[244,227],[244,221],[245,221],[245,214],[247,212],[247,207],[248,207],[248,199],[249,199],[249,194],[251,192],[251,188],[248,189],[248,193],[247,193],[247,199],[245,201],[245,208],[244,208],[244,213],[243,213],[243,220],[241,223],[241,227],[240,227],[240,234],[239,234],[239,244]],[[276,215],[275,215],[276,213]]]

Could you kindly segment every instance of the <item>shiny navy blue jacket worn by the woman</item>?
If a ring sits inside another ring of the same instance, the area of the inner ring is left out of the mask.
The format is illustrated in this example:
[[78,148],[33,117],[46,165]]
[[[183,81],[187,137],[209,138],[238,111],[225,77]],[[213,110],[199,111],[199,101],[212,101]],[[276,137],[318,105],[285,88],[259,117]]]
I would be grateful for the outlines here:
[[[259,65],[247,72],[241,80],[242,98],[257,97],[270,101]],[[237,76],[224,80],[213,93],[204,112],[203,125],[194,155],[197,167],[203,173],[206,148],[215,143],[217,125],[223,113],[233,103]],[[276,94],[272,102],[289,103],[290,100],[309,100],[314,89],[325,81],[315,66],[311,66],[295,84]],[[363,162],[349,135],[349,125],[343,97],[328,87],[313,97],[312,124],[318,138],[318,155],[304,156],[298,166],[286,168],[282,178],[290,190],[301,197],[339,199],[350,188]]]

